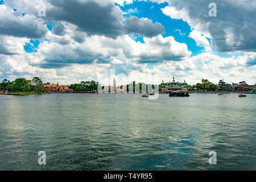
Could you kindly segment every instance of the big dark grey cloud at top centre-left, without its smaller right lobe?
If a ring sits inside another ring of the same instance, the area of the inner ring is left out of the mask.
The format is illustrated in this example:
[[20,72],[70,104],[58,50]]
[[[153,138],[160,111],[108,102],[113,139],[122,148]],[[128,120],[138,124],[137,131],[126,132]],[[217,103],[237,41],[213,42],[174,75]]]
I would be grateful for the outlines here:
[[104,35],[116,38],[125,32],[122,25],[122,11],[111,1],[49,1],[47,19],[75,24],[88,35]]

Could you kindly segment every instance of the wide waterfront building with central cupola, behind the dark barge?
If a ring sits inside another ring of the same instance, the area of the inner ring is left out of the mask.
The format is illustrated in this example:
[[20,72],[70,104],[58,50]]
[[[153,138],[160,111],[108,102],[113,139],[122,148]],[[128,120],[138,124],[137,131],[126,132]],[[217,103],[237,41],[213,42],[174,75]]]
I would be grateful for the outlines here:
[[165,82],[162,81],[159,87],[159,91],[161,93],[169,93],[169,92],[177,92],[177,91],[183,91],[188,92],[188,84],[184,80],[184,82],[175,82],[175,78],[172,78],[172,82]]

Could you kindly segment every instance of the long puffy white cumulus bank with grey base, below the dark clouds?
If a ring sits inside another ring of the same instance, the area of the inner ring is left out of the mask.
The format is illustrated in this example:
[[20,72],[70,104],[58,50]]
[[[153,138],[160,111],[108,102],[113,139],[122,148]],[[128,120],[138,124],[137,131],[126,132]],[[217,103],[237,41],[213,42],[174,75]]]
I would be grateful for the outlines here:
[[135,42],[128,35],[118,39],[104,36],[85,36],[82,43],[72,43],[72,35],[66,36],[67,44],[59,41],[59,36],[49,34],[52,42],[40,44],[40,53],[44,55],[42,68],[60,68],[71,64],[125,64],[160,63],[180,61],[189,57],[187,45],[178,43],[170,36],[162,35],[144,38],[145,43]]

